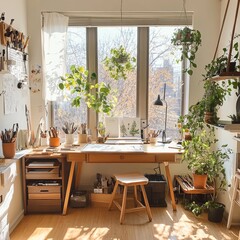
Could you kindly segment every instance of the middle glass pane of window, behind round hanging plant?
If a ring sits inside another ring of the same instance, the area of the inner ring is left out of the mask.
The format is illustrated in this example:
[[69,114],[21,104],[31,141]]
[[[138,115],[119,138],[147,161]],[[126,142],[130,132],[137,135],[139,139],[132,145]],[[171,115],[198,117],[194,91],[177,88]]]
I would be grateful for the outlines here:
[[[126,80],[113,80],[103,66],[104,58],[112,48],[123,45],[131,56],[137,58],[137,27],[98,28],[98,76],[99,81],[109,83],[117,99],[112,116],[136,117],[137,71],[128,74]],[[102,119],[102,116],[99,116]]]

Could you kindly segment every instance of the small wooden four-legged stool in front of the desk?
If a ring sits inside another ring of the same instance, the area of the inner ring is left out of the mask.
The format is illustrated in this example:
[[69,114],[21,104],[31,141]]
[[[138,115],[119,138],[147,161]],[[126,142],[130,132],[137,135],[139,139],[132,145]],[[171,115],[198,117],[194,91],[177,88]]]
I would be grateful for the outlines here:
[[[116,174],[116,175],[114,175],[114,177],[116,178],[116,183],[115,183],[115,186],[113,189],[112,199],[110,201],[108,209],[109,210],[111,209],[113,203],[117,206],[117,208],[121,211],[121,214],[120,214],[120,223],[121,224],[124,221],[125,213],[137,212],[137,211],[142,211],[142,210],[147,211],[149,221],[151,222],[152,221],[152,213],[151,213],[151,209],[150,209],[150,206],[148,203],[147,194],[146,194],[146,191],[144,188],[144,185],[148,184],[148,179],[140,173]],[[124,186],[122,205],[120,205],[116,201],[116,198],[115,198],[118,185]],[[138,200],[137,186],[141,187],[145,206]],[[128,187],[134,187],[133,199],[134,199],[135,207],[126,209]]]

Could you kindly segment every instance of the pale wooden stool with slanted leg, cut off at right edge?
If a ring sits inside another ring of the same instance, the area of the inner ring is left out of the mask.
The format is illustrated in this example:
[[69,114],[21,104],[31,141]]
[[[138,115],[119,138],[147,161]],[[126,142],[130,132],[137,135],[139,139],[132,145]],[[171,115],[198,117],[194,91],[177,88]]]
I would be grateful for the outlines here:
[[[233,195],[231,199],[230,210],[228,214],[227,228],[229,229],[232,225],[232,215],[234,210],[234,204],[240,206],[240,173],[236,173],[234,177]],[[240,235],[240,232],[239,232]]]

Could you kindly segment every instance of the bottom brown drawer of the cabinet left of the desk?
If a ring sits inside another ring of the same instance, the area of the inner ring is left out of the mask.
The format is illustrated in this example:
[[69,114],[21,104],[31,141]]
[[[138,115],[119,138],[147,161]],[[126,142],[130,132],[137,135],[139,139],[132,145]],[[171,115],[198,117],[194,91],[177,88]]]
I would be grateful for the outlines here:
[[60,199],[29,199],[27,205],[27,211],[30,213],[42,213],[42,212],[61,212],[61,200]]

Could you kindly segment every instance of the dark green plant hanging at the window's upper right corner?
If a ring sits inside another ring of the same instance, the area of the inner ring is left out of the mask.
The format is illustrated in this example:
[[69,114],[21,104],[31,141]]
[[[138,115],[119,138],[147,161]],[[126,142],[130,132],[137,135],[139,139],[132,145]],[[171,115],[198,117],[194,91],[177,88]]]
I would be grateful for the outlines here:
[[198,30],[189,27],[177,29],[171,38],[171,43],[181,51],[180,59],[177,61],[183,61],[184,58],[189,60],[189,67],[186,67],[184,70],[189,75],[192,75],[193,68],[197,67],[195,58],[201,42],[201,33]]

